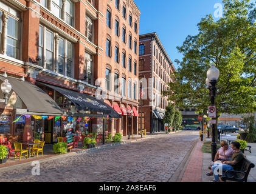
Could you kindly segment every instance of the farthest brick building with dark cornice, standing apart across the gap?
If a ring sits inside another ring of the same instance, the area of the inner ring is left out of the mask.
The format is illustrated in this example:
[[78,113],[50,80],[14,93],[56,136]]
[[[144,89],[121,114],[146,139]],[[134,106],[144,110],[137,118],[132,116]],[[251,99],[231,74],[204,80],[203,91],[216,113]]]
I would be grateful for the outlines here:
[[157,34],[140,35],[139,79],[145,78],[148,84],[143,86],[144,91],[147,91],[147,99],[142,101],[142,128],[147,129],[147,132],[165,130],[163,118],[165,108],[170,102],[167,96],[162,96],[161,93],[167,89],[167,83],[171,81],[170,75],[173,72],[175,72],[173,62]]

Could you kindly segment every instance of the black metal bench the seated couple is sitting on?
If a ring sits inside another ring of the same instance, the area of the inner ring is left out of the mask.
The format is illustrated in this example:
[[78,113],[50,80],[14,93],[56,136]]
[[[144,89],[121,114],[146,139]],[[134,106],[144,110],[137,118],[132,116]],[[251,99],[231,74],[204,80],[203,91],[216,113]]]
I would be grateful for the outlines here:
[[220,177],[224,182],[226,182],[227,180],[236,182],[247,182],[248,175],[252,168],[254,168],[254,164],[248,159],[244,158],[241,169],[239,169],[238,171],[227,170]]

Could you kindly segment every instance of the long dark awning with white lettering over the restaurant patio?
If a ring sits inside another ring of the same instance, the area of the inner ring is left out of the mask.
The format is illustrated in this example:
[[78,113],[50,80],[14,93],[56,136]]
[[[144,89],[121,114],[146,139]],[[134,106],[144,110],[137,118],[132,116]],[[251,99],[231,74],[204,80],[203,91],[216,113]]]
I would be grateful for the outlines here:
[[54,85],[44,85],[66,96],[74,103],[74,105],[77,107],[77,110],[106,113],[113,118],[120,118],[117,117],[119,114],[103,100],[96,99],[95,97],[86,95],[85,93],[78,93],[73,90],[63,89]]

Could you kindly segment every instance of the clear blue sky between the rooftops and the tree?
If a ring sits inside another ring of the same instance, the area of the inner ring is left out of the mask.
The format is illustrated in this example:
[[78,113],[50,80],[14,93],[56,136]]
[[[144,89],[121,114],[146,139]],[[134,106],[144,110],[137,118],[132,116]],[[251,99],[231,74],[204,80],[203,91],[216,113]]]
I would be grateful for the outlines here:
[[216,3],[222,0],[134,0],[139,7],[140,35],[156,32],[171,61],[182,60],[176,46],[188,35],[198,33],[198,24],[206,15],[214,15]]

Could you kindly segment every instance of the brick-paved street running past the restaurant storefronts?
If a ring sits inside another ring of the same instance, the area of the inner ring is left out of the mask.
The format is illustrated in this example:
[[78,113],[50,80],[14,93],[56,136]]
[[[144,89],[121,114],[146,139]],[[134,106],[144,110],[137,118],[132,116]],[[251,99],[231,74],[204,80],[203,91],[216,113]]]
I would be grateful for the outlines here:
[[0,169],[0,181],[168,181],[181,164],[199,132],[132,142],[40,162],[40,176],[24,166]]

